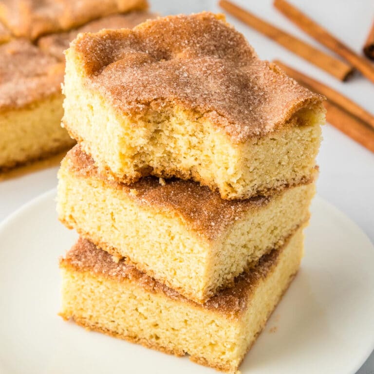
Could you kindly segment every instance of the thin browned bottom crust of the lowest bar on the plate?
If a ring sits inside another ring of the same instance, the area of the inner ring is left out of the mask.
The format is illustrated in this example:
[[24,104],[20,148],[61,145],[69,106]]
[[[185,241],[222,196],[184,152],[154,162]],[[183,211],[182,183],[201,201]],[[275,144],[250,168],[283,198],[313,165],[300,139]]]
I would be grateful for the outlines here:
[[[287,291],[289,285],[291,284],[291,282],[293,281],[294,277],[296,276],[296,274],[292,275],[289,279],[289,282],[288,282],[288,285],[287,287],[284,289],[282,295],[281,295],[281,298],[278,300],[278,303],[281,301],[281,299],[283,298],[283,295],[285,294],[285,292]],[[274,308],[275,309],[275,308]],[[265,324],[267,322],[267,320],[270,318],[271,314],[273,313],[274,309],[269,313],[269,315],[267,316],[267,318],[265,318],[263,320],[263,323],[262,323],[262,326],[261,326],[261,329],[259,330],[259,332],[256,334],[254,340],[252,341],[252,343],[248,346],[247,348],[247,352],[250,351],[250,349],[252,348],[253,344],[256,342],[257,338],[259,337],[259,335],[261,334],[263,328],[265,327]],[[143,345],[144,347],[146,348],[150,348],[150,349],[154,349],[156,351],[160,351],[160,352],[163,352],[163,353],[167,353],[169,355],[175,355],[177,357],[182,357],[184,355],[186,355],[186,353],[183,351],[183,350],[177,350],[175,348],[172,348],[172,347],[164,347],[164,346],[161,346],[155,342],[151,342],[150,340],[148,339],[144,339],[144,338],[139,338],[139,337],[131,337],[131,336],[128,336],[128,335],[124,335],[124,334],[118,334],[116,332],[113,332],[111,330],[108,330],[108,329],[105,329],[97,324],[92,324],[92,323],[89,323],[87,321],[87,319],[85,318],[80,318],[78,316],[67,316],[65,315],[64,313],[60,313],[59,314],[62,318],[64,318],[65,320],[74,320],[74,322],[84,328],[86,328],[87,330],[92,330],[92,331],[97,331],[99,333],[102,333],[102,334],[106,334],[106,335],[109,335],[111,337],[116,337],[116,338],[119,338],[119,339],[124,339],[124,340],[127,340],[131,343],[136,343],[136,344],[140,344],[140,345]],[[243,357],[244,358],[244,357]],[[201,357],[201,356],[194,356],[194,355],[190,355],[189,356],[189,359],[193,362],[196,362],[200,365],[204,365],[204,366],[207,366],[207,367],[211,367],[211,368],[214,368],[216,370],[219,370],[219,371],[222,371],[222,372],[230,372],[230,373],[236,373],[236,372],[233,372],[232,371],[232,368],[229,366],[229,365],[219,365],[217,363],[213,363],[213,362],[209,362],[206,360],[205,357]],[[243,359],[242,359],[243,361]],[[241,362],[240,362],[241,364]],[[239,365],[240,365],[239,364]],[[238,365],[238,366],[239,366]]]

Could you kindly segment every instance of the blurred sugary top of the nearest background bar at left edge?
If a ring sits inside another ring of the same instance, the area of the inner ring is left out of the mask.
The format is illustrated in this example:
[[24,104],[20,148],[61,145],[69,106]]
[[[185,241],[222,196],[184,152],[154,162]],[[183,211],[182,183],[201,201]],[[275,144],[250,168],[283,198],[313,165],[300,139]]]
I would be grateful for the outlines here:
[[24,39],[0,45],[0,112],[61,92],[64,64]]

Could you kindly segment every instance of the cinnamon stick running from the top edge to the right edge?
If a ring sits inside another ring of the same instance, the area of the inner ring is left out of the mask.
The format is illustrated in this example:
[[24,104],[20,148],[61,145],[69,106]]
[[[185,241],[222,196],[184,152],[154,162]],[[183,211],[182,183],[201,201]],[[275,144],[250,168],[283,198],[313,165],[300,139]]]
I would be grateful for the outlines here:
[[286,0],[274,0],[274,6],[288,19],[299,26],[301,30],[337,53],[339,56],[342,56],[346,61],[360,71],[362,75],[374,82],[374,66],[364,57],[357,55],[343,42],[332,36],[325,28],[318,25],[318,23],[313,19],[310,19]]

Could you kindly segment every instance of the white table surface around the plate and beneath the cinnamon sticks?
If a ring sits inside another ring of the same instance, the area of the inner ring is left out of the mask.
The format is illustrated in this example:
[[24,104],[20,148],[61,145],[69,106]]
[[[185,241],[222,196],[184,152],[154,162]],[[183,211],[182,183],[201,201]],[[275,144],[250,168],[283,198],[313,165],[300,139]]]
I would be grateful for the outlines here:
[[[212,0],[150,0],[150,2],[151,9],[162,15],[202,10],[220,11],[216,1]],[[318,46],[273,8],[271,0],[236,0],[236,2],[263,19]],[[373,0],[292,0],[292,2],[314,19],[318,19],[352,49],[361,53],[361,46],[373,21]],[[227,16],[227,19],[248,38],[261,58],[269,60],[279,58],[336,88],[368,111],[374,112],[374,84],[362,76],[357,74],[349,82],[341,83],[240,21],[230,16]],[[318,155],[320,166],[318,193],[345,212],[374,242],[374,153],[356,144],[328,124],[323,128],[323,137]],[[56,187],[56,171],[56,167],[48,168],[0,182],[0,221],[30,199]],[[355,250],[359,248],[352,248],[352,251]],[[374,334],[374,331],[368,331],[368,334]],[[357,374],[374,374],[374,353]]]

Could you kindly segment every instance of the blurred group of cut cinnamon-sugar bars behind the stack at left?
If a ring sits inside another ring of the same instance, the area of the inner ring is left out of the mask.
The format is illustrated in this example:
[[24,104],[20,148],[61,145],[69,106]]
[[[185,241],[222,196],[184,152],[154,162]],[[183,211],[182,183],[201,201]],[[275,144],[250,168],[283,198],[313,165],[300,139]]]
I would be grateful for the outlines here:
[[132,28],[146,0],[0,0],[0,172],[71,148],[63,50],[79,32]]

